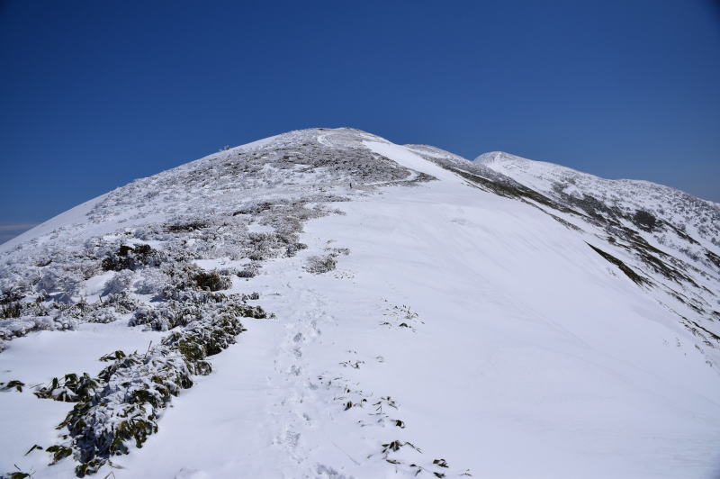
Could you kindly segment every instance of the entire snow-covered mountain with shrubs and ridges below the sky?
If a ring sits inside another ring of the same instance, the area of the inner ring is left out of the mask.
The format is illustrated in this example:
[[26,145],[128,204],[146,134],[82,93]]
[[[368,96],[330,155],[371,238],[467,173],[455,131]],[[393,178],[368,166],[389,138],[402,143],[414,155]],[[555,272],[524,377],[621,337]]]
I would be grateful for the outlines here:
[[714,477],[719,286],[717,203],[285,133],[0,245],[0,474]]

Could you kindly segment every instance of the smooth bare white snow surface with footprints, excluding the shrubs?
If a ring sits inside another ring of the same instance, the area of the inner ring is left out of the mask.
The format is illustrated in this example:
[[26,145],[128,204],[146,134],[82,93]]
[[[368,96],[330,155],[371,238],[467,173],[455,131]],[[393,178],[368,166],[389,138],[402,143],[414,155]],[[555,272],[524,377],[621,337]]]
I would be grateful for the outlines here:
[[[311,135],[347,147],[347,131]],[[610,248],[590,227],[569,229],[533,204],[481,191],[420,147],[350,138],[437,180],[334,203],[344,214],[305,223],[308,249],[233,278],[227,293],[257,291],[276,318],[245,319],[247,332],[175,398],[157,434],[99,477],[413,477],[410,464],[425,468],[420,477],[720,474],[716,366],[652,291],[588,247]],[[76,213],[55,227],[80,221]],[[327,249],[349,254],[329,273],[303,269]],[[88,280],[87,292],[103,281]],[[0,382],[94,374],[103,354],[142,350],[162,334],[120,321],[31,333],[0,353]],[[68,459],[23,456],[50,444],[67,403],[26,390],[0,393],[0,404],[0,472],[17,464],[33,477],[71,476]],[[388,456],[393,465],[382,454],[393,440],[421,452],[402,447]],[[450,467],[432,464],[441,458]]]

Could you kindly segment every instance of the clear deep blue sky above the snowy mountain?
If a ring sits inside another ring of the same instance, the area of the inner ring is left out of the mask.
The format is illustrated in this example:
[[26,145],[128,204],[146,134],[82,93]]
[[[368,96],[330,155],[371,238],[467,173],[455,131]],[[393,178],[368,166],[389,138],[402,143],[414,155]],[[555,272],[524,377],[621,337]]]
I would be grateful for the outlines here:
[[0,65],[0,237],[313,126],[720,202],[716,2],[4,1]]

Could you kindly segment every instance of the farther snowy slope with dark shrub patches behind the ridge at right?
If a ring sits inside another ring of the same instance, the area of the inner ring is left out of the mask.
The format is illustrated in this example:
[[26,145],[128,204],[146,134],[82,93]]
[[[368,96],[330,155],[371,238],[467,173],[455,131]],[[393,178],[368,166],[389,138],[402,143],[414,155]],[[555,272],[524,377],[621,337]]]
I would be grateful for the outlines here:
[[582,218],[583,228],[619,247],[645,284],[666,295],[662,303],[705,344],[720,339],[720,204],[664,185],[608,180],[502,152],[477,162]]

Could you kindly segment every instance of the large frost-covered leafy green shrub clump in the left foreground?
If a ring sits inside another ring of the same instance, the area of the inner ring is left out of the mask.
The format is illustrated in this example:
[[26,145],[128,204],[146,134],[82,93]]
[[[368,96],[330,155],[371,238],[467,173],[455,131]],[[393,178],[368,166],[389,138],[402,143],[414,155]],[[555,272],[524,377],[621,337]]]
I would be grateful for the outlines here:
[[116,359],[95,378],[66,375],[38,391],[40,397],[77,402],[59,427],[70,439],[56,449],[75,451],[81,463],[76,474],[96,472],[110,456],[127,454],[128,443],[141,447],[157,432],[160,411],[181,389],[193,385],[192,375],[207,375],[206,357],[235,342],[244,329],[229,313],[206,314],[167,336],[145,354]]

